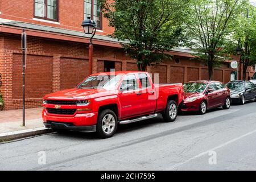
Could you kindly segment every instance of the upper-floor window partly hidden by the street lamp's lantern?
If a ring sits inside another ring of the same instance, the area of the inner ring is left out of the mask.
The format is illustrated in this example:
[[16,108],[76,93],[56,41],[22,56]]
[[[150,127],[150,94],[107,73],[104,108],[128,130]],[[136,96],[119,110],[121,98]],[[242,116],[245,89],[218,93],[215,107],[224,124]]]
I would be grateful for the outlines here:
[[101,29],[101,7],[97,0],[84,0],[84,19],[93,19]]

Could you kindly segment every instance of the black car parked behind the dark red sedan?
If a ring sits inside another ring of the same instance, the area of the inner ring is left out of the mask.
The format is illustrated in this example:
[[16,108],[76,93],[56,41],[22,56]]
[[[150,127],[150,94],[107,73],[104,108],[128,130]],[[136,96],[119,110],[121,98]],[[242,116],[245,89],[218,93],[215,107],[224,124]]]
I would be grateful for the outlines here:
[[256,85],[250,81],[230,81],[226,86],[230,89],[231,101],[245,104],[245,101],[256,99]]

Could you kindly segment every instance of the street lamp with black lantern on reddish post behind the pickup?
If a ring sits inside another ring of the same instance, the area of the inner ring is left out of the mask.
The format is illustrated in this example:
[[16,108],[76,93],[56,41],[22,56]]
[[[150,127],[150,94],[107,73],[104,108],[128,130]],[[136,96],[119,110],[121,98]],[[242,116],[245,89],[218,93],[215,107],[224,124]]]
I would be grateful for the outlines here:
[[96,23],[91,19],[86,19],[82,21],[82,28],[84,28],[85,34],[92,35],[90,37],[90,43],[89,43],[89,75],[92,75],[92,68],[93,68],[93,43],[92,39],[93,36],[96,33]]

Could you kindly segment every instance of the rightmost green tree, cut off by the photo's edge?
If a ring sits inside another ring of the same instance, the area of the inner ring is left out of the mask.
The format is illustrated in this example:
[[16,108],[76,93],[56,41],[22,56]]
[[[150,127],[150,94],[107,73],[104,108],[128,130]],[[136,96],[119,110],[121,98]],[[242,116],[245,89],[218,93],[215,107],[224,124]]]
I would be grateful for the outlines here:
[[249,1],[236,19],[226,51],[234,55],[237,46],[242,48],[240,61],[243,65],[243,80],[246,80],[247,67],[256,63],[256,8]]

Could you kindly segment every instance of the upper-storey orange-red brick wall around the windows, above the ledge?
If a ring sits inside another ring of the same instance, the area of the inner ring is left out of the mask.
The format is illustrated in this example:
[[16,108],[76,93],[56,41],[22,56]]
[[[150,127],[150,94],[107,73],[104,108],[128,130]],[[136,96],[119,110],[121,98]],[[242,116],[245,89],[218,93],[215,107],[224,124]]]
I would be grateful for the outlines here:
[[[59,24],[33,20],[34,1],[1,0],[0,5],[2,12],[0,18],[83,31],[81,23],[84,20],[84,0],[59,0]],[[109,27],[109,22],[104,16],[102,16],[102,31],[97,31],[97,34],[108,35],[114,31],[113,27]]]

